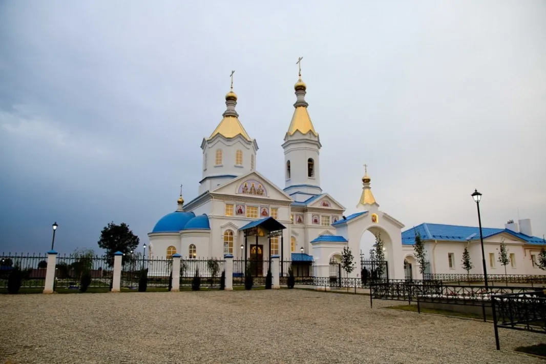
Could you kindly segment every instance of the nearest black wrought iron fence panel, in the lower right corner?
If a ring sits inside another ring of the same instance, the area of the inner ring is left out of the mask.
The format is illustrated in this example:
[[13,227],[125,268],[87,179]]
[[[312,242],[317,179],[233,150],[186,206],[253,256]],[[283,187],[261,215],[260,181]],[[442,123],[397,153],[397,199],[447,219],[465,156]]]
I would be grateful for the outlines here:
[[546,333],[546,297],[543,291],[508,293],[491,297],[495,343],[498,328]]

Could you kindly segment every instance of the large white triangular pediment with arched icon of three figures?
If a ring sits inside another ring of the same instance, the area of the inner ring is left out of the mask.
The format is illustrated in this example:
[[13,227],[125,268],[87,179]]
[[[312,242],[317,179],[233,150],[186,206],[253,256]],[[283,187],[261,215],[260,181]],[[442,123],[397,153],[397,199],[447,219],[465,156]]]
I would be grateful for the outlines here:
[[256,171],[241,175],[210,192],[215,195],[294,201],[282,189]]

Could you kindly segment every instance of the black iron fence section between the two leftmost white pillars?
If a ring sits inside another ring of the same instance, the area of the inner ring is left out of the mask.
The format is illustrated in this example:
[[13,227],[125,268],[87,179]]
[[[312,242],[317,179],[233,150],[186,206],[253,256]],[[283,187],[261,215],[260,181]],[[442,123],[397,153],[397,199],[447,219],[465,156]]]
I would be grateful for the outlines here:
[[111,257],[69,254],[57,256],[55,289],[79,289],[84,273],[91,275],[90,288],[109,288],[112,281]]

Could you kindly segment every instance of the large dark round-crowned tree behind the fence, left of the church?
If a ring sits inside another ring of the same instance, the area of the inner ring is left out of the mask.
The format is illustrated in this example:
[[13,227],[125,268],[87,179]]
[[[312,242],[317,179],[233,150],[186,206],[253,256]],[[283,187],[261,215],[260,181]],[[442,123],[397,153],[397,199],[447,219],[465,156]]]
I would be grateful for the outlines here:
[[108,265],[113,267],[114,253],[116,251],[121,251],[121,253],[125,254],[122,259],[122,265],[132,262],[135,259],[134,254],[130,254],[130,251],[136,250],[136,247],[140,244],[140,239],[129,229],[129,225],[124,222],[116,225],[112,221],[100,232],[98,244],[99,248],[106,251]]

